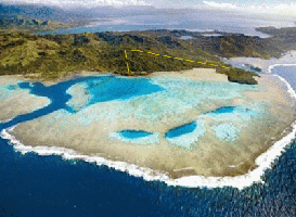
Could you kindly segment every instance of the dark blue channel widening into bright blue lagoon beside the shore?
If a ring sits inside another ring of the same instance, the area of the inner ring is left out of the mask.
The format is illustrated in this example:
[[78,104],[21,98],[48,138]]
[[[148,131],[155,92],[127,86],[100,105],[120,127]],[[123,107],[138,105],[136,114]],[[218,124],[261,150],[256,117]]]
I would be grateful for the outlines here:
[[[21,89],[28,89],[31,94],[39,97],[47,97],[51,100],[51,103],[40,110],[36,110],[31,113],[20,115],[12,119],[12,122],[4,123],[0,127],[8,128],[25,120],[38,118],[40,116],[53,113],[57,110],[66,110],[69,113],[76,113],[73,107],[67,105],[67,102],[72,98],[67,93],[67,90],[75,84],[87,82],[89,85],[88,91],[92,94],[90,102],[87,106],[98,103],[113,100],[129,99],[137,95],[151,94],[153,92],[162,91],[163,88],[155,84],[150,82],[143,78],[120,78],[113,75],[107,76],[92,76],[75,78],[73,80],[62,81],[53,86],[44,86],[41,82],[18,82],[17,86]],[[107,84],[113,84],[113,86]],[[101,84],[98,85],[98,84]],[[102,85],[105,84],[105,85]],[[5,94],[13,93],[13,86],[4,86]],[[9,91],[11,90],[11,91]],[[1,99],[1,98],[0,98]]]

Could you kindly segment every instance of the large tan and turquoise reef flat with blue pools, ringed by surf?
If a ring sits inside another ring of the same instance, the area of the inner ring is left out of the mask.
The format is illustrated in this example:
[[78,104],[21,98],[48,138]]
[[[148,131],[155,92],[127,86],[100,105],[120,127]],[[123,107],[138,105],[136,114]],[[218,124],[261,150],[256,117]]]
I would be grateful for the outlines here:
[[249,86],[213,69],[207,79],[197,73],[86,79],[67,89],[72,110],[21,123],[12,133],[31,146],[72,149],[171,178],[246,174],[288,132],[295,103],[272,76]]

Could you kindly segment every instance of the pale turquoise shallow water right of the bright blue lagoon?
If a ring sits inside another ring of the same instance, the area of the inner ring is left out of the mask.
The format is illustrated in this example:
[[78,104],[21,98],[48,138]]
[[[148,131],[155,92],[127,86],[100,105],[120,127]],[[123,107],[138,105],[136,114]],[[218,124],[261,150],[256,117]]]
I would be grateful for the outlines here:
[[133,107],[133,115],[137,118],[146,118],[150,122],[173,115],[177,122],[183,123],[182,119],[178,119],[178,114],[184,114],[192,107],[207,110],[206,106],[214,101],[223,104],[227,100],[241,97],[245,90],[260,90],[256,86],[189,79],[153,78],[152,82],[164,90],[145,97],[141,105]]

